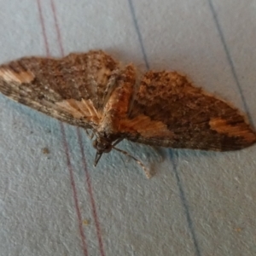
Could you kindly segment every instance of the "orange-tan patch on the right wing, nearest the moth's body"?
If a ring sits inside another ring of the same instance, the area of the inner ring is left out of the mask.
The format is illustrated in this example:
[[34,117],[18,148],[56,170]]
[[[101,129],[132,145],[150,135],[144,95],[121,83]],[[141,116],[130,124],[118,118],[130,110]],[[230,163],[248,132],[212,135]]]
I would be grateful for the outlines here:
[[138,132],[145,138],[171,138],[173,132],[169,131],[166,125],[160,121],[154,121],[148,116],[140,114],[135,119],[122,119],[119,121],[119,131]]

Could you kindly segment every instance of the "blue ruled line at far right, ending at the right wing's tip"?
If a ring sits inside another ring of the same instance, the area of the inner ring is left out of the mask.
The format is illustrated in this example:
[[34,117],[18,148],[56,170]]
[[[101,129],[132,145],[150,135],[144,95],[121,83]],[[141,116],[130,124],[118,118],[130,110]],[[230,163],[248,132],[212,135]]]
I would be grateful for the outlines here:
[[238,76],[237,76],[237,73],[236,73],[236,68],[235,68],[235,64],[234,64],[234,61],[232,60],[232,57],[230,55],[230,50],[229,50],[229,47],[228,47],[228,44],[226,43],[226,40],[224,38],[224,33],[222,31],[222,28],[218,22],[218,15],[213,7],[213,4],[212,4],[212,0],[207,0],[208,3],[209,3],[209,6],[210,6],[210,9],[211,9],[211,12],[212,12],[212,17],[213,17],[213,20],[215,22],[215,26],[217,27],[217,30],[218,30],[218,35],[219,35],[219,38],[221,40],[221,43],[223,44],[223,47],[224,47],[224,52],[225,52],[225,55],[226,55],[226,58],[230,64],[230,68],[231,68],[231,73],[233,75],[233,78],[236,82],[236,87],[240,93],[240,96],[241,96],[241,101],[243,103],[243,106],[244,106],[244,109],[247,113],[247,116],[248,116],[248,119],[250,120],[250,122],[253,124],[253,118],[249,112],[249,108],[247,106],[247,101],[246,101],[246,98],[243,94],[243,91],[241,89],[241,84],[240,84],[240,81],[238,79]]

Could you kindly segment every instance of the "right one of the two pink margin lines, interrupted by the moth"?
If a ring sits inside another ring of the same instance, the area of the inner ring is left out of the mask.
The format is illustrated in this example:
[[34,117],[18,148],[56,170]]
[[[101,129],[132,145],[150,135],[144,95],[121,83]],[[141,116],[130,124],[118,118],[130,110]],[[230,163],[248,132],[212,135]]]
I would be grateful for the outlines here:
[[[58,43],[59,43],[60,49],[61,49],[61,55],[64,55],[64,49],[63,49],[63,44],[62,44],[62,39],[61,39],[61,31],[60,31],[59,23],[57,20],[55,3],[53,0],[50,0],[50,2],[51,2],[51,8],[52,8],[52,11],[54,14],[55,28],[56,28],[56,32],[57,32]],[[100,222],[99,222],[99,219],[97,216],[96,203],[95,203],[94,196],[93,196],[93,189],[92,189],[92,185],[90,182],[90,174],[87,169],[87,164],[86,164],[85,155],[84,155],[84,148],[83,148],[83,143],[82,143],[82,137],[81,137],[79,128],[77,129],[77,134],[78,134],[78,139],[79,139],[80,151],[82,154],[82,161],[83,161],[83,165],[84,165],[85,180],[87,183],[88,193],[90,195],[90,204],[91,204],[92,215],[93,215],[94,222],[96,225],[96,235],[98,238],[101,255],[105,256],[103,242],[102,242],[102,232],[101,232]]]

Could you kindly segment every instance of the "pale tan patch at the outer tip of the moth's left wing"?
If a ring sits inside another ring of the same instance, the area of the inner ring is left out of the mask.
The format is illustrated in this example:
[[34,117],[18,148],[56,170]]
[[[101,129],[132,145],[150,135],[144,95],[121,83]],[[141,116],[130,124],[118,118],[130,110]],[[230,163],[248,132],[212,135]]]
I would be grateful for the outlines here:
[[19,84],[29,84],[35,78],[34,75],[29,71],[16,73],[6,68],[0,69],[0,77],[7,83],[16,82]]

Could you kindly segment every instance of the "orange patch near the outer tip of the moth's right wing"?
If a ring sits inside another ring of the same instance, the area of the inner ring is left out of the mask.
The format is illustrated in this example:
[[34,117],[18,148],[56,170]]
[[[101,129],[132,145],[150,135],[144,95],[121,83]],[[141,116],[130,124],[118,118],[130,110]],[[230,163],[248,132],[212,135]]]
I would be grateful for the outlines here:
[[229,125],[225,119],[211,119],[209,125],[212,130],[218,133],[224,133],[230,137],[244,137],[247,141],[255,139],[253,132],[249,131],[245,123],[241,125]]

